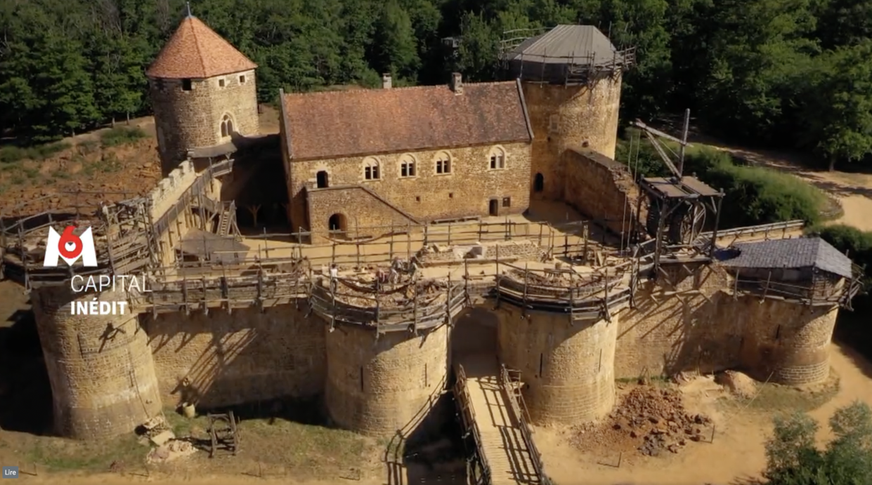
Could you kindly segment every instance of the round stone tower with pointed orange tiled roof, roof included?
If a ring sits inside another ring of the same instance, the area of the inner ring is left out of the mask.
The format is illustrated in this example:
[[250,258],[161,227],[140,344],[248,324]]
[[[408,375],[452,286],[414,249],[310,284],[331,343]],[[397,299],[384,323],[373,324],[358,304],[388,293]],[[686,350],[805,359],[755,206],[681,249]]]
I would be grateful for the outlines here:
[[256,67],[197,17],[182,20],[146,71],[164,177],[188,152],[259,133]]

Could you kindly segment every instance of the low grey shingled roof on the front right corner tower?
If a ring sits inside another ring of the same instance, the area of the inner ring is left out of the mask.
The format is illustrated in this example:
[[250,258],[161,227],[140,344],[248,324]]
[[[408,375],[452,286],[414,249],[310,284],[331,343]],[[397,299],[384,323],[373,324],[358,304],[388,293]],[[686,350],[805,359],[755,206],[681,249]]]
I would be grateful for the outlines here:
[[739,255],[724,260],[725,266],[760,269],[814,267],[845,278],[853,276],[851,259],[821,238],[773,239],[739,243],[733,247]]

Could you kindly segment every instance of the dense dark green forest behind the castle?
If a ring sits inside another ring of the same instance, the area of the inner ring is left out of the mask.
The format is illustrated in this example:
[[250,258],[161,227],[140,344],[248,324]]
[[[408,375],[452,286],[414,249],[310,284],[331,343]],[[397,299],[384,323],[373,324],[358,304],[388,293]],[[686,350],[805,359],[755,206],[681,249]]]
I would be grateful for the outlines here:
[[[722,138],[872,164],[872,3],[855,0],[194,0],[260,64],[258,96],[498,77],[505,30],[594,24],[637,46],[623,119],[691,108]],[[0,130],[38,143],[148,112],[183,0],[4,0]],[[443,42],[460,37],[454,51]]]

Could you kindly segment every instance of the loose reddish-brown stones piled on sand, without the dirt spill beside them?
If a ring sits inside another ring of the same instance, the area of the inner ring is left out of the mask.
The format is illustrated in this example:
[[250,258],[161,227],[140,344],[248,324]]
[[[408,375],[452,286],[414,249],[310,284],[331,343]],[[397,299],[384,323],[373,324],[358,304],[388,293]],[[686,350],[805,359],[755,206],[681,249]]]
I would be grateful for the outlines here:
[[609,419],[611,429],[641,441],[637,450],[648,456],[678,453],[688,441],[701,441],[703,429],[712,422],[701,414],[687,414],[677,390],[648,386],[625,395]]

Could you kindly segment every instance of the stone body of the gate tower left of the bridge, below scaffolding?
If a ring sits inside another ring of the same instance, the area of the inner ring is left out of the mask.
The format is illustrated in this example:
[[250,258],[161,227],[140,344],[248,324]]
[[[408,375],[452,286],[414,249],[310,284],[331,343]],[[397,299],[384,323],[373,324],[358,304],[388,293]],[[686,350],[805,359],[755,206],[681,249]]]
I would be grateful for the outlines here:
[[378,336],[356,325],[327,331],[330,418],[346,429],[390,437],[426,416],[446,385],[448,326]]

